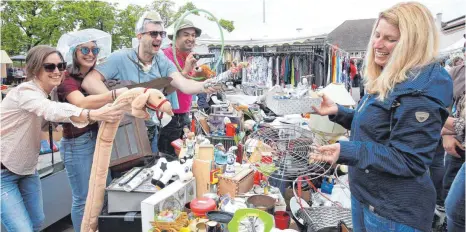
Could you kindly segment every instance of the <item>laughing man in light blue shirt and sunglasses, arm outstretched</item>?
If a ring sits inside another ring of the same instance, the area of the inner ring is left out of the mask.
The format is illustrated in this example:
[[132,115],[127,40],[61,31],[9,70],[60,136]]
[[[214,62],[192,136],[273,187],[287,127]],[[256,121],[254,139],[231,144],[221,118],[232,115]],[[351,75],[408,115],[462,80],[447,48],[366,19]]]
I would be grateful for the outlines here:
[[[171,85],[186,94],[215,92],[214,88],[206,88],[205,82],[189,80],[178,72],[175,65],[160,52],[162,39],[166,32],[163,21],[157,12],[146,12],[136,24],[136,35],[139,46],[136,49],[122,49],[112,53],[103,63],[86,75],[83,88],[90,94],[100,94],[108,91],[103,83],[106,80],[126,80],[144,83],[160,77],[171,77]],[[192,70],[196,60],[186,63]],[[176,92],[167,96],[173,109],[178,109]],[[155,125],[146,122],[149,130],[152,151],[156,152],[157,139]]]

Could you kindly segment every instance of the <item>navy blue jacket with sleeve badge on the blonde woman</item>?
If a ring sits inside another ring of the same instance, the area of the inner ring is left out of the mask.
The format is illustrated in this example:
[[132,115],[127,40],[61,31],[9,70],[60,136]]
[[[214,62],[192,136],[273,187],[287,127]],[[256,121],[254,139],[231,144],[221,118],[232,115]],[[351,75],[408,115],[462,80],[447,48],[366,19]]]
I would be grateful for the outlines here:
[[338,162],[350,166],[352,195],[385,218],[430,231],[436,193],[428,170],[453,83],[437,63],[408,76],[383,102],[367,94],[356,110],[338,106],[329,119],[351,129]]

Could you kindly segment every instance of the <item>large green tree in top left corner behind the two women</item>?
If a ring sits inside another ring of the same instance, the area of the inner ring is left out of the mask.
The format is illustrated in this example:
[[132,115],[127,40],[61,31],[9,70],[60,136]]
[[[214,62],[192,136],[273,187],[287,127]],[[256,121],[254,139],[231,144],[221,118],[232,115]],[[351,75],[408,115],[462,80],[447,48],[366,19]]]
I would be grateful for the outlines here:
[[96,28],[114,34],[116,4],[99,1],[2,2],[2,49],[25,52],[39,44],[56,46],[63,34]]

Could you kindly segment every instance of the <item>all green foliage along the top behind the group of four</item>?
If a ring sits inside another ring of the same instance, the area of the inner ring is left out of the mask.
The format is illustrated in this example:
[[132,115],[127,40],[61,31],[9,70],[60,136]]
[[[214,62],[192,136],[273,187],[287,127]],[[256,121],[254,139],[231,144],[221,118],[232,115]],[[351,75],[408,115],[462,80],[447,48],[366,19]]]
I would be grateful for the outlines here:
[[[25,53],[39,44],[56,46],[61,35],[85,28],[110,33],[113,50],[131,47],[136,22],[144,11],[159,12],[168,26],[186,11],[196,9],[187,2],[175,11],[172,0],[153,0],[149,6],[129,5],[125,9],[96,0],[1,1],[0,7],[1,49],[9,55]],[[233,21],[224,19],[220,25],[230,32],[235,28]]]

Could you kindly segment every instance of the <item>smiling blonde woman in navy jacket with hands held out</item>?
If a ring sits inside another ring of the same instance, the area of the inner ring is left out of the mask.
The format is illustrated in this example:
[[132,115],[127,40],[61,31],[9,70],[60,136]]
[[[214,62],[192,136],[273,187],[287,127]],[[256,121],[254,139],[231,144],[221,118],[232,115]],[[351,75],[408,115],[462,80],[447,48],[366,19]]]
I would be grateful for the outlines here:
[[316,109],[351,129],[350,141],[312,156],[350,166],[354,231],[430,231],[436,193],[428,168],[453,95],[434,63],[438,32],[429,10],[409,2],[380,13],[371,36],[358,107],[324,96]]

